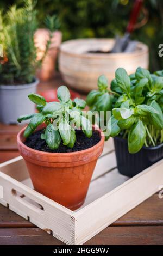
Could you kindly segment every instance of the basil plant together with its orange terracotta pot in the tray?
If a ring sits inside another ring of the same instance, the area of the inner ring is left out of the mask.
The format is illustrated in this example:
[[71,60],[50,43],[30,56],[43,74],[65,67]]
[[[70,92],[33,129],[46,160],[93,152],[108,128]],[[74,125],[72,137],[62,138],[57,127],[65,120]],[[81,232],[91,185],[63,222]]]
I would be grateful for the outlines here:
[[[59,102],[29,94],[39,113],[23,115],[30,123],[17,135],[20,154],[27,163],[36,191],[75,210],[85,200],[93,170],[104,145],[103,132],[93,129],[82,109],[86,102],[70,99],[65,86],[58,88]],[[80,130],[82,127],[82,130]]]

